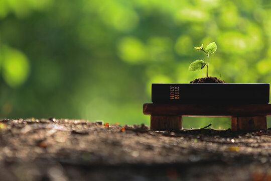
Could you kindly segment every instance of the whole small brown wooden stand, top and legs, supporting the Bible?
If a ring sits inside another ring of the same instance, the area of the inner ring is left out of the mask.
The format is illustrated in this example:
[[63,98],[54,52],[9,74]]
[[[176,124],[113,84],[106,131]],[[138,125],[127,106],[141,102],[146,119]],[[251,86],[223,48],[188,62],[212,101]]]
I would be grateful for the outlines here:
[[152,130],[182,130],[182,116],[230,117],[231,130],[266,129],[271,105],[192,105],[144,104],[143,113],[151,115]]

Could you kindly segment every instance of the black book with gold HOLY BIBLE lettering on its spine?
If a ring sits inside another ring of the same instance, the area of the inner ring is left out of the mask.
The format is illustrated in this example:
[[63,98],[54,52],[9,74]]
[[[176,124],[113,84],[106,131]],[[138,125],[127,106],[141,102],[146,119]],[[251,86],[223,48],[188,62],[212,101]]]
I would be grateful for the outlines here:
[[152,83],[152,102],[268,104],[269,83]]

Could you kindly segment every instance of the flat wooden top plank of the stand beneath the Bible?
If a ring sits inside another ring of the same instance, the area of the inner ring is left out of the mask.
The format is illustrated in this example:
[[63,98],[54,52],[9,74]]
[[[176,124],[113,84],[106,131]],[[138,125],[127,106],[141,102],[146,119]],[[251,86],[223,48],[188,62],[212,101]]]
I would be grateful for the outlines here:
[[144,104],[143,113],[202,117],[271,116],[271,105]]

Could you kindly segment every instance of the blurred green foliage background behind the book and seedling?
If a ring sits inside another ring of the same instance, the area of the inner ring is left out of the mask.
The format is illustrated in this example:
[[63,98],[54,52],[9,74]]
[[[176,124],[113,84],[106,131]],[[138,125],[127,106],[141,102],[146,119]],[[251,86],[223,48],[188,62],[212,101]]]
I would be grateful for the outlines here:
[[[271,81],[270,1],[0,0],[1,118],[150,124],[151,83],[204,77],[188,66],[206,59],[193,47],[213,41],[210,76]],[[184,119],[209,123],[230,127]]]

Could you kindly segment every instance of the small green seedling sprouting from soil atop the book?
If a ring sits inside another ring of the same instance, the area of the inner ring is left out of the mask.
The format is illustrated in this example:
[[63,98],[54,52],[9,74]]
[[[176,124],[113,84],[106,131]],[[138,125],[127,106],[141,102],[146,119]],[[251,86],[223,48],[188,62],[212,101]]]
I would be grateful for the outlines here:
[[196,50],[203,51],[207,55],[208,63],[206,63],[203,60],[193,61],[189,65],[188,70],[190,70],[190,71],[198,71],[198,70],[203,69],[205,67],[205,65],[206,65],[206,68],[207,68],[206,76],[208,77],[208,67],[209,67],[209,62],[210,62],[209,54],[214,53],[216,51],[216,48],[217,48],[217,46],[216,46],[215,42],[210,43],[205,49],[203,48],[203,45],[201,45],[200,47],[195,47]]

